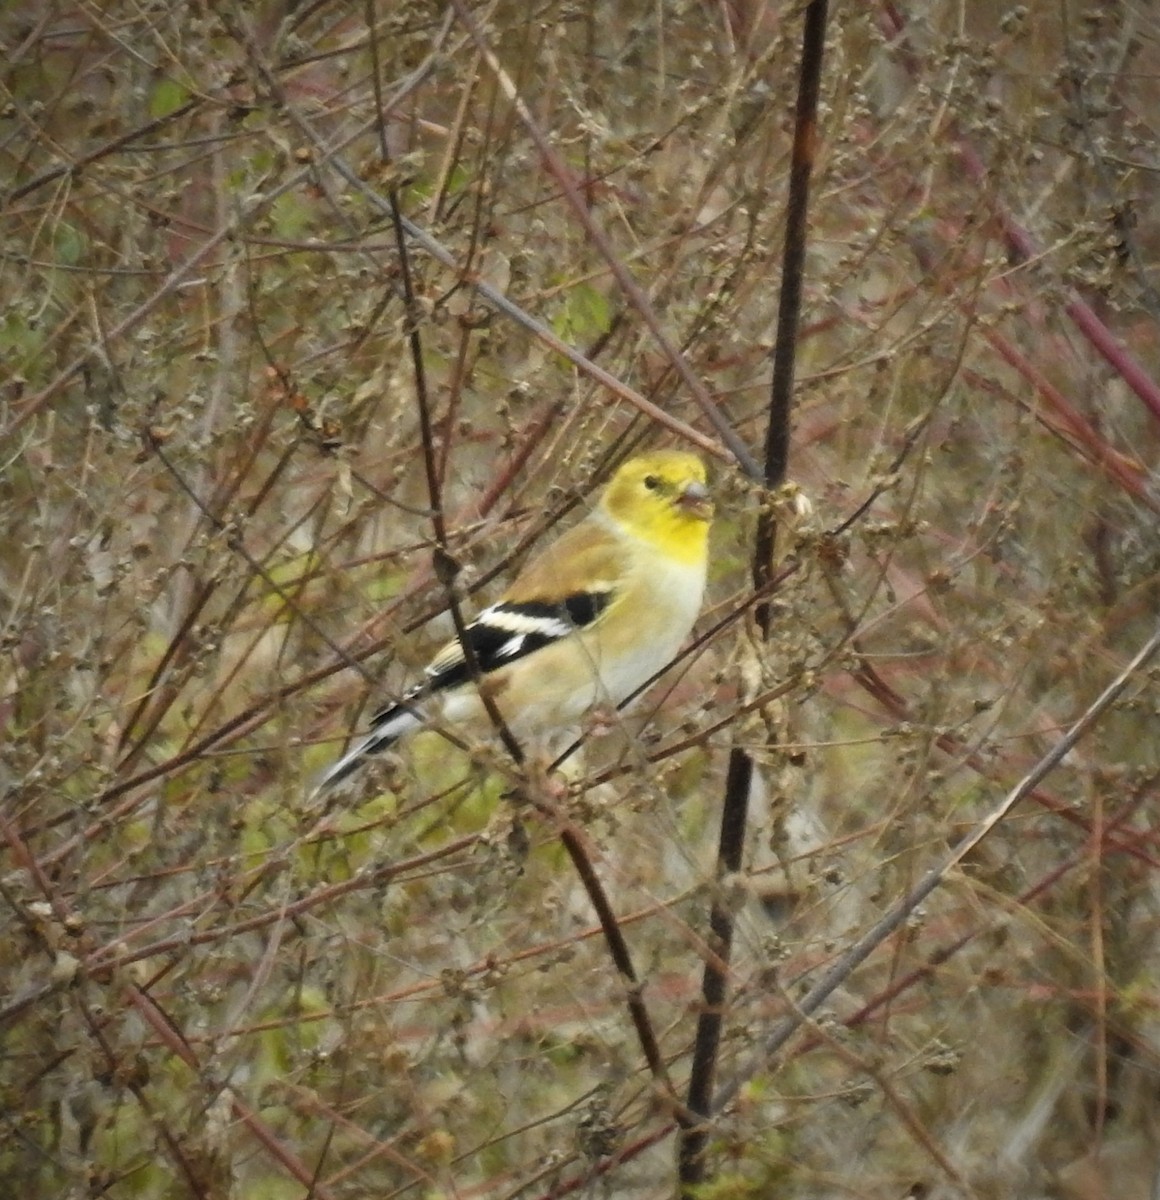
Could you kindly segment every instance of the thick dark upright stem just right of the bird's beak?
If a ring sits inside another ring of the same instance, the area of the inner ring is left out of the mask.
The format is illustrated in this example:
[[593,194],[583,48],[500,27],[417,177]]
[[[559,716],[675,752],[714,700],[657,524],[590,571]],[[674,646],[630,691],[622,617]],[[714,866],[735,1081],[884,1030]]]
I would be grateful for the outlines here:
[[[777,338],[774,344],[774,371],[770,384],[769,425],[765,431],[767,488],[777,487],[786,478],[789,458],[789,415],[793,401],[794,355],[801,311],[801,280],[805,270],[806,224],[810,208],[810,175],[817,144],[818,90],[825,48],[827,0],[811,0],[806,8],[801,37],[801,71],[798,80],[798,106],[794,122],[793,157],[789,170],[789,197],[786,205],[786,240],[782,253],[782,282],[777,310]],[[757,592],[771,582],[777,522],[767,506],[757,523],[753,546],[752,577]],[[770,606],[762,601],[755,607],[762,638],[769,636]],[[721,811],[721,836],[717,842],[717,880],[741,869],[745,832],[749,822],[749,796],[753,779],[753,761],[741,749],[729,755],[725,798]],[[722,898],[714,901],[709,914],[710,948],[716,958],[705,964],[702,980],[703,1007],[697,1021],[692,1066],[689,1076],[687,1108],[691,1115],[708,1121],[713,1105],[713,1087],[721,1030],[725,1020],[727,971],[733,949],[733,913]],[[705,1178],[708,1124],[681,1132],[679,1180],[681,1195]]]

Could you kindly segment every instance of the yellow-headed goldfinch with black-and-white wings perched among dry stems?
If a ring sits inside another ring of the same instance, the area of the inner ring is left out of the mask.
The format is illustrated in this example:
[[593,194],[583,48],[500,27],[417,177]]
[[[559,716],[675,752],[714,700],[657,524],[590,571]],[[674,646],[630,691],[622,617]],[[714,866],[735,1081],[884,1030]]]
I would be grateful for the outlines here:
[[678,652],[705,589],[713,502],[699,458],[660,450],[631,458],[593,511],[524,566],[505,595],[431,661],[397,704],[319,780],[428,722],[488,720],[486,692],[517,737],[573,725],[623,703]]

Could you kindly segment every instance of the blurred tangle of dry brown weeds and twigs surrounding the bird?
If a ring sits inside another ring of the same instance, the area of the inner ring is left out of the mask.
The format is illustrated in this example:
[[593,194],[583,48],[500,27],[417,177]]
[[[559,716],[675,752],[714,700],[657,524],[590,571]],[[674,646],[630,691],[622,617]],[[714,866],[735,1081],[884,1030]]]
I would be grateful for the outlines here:
[[[721,452],[710,636],[561,805],[678,1097],[705,914],[737,911],[705,1200],[1142,1200],[1154,672],[755,1058],[1158,610],[1160,19],[831,8],[774,640]],[[716,443],[511,90],[758,455],[799,40],[759,0],[0,11],[13,1194],[673,1194],[672,1103],[505,756],[428,734],[329,809],[309,781],[450,632],[426,451],[471,608],[683,440],[624,389]],[[722,893],[734,745],[759,786]]]

